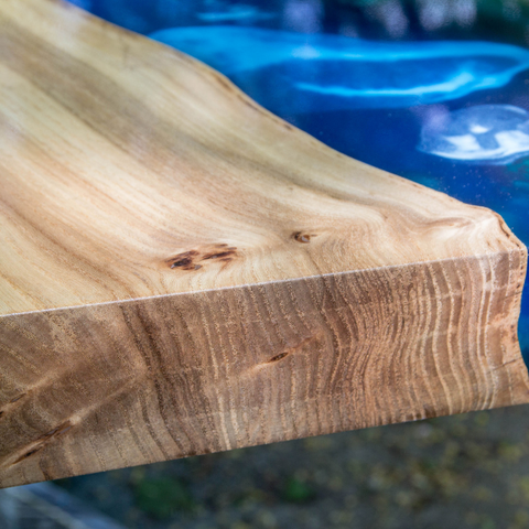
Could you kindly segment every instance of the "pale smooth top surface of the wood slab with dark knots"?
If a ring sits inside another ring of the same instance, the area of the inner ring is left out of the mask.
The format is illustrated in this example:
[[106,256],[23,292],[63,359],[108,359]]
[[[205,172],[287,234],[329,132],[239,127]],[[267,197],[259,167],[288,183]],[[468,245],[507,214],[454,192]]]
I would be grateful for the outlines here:
[[520,247],[64,2],[2,0],[0,101],[0,314]]

